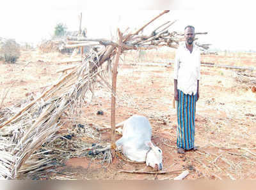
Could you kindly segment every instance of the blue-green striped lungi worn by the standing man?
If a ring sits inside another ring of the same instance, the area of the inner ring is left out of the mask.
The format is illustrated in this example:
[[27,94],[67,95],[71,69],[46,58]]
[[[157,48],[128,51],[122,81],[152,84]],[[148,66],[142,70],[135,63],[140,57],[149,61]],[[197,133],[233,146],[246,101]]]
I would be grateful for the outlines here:
[[196,94],[184,94],[178,89],[177,102],[177,147],[185,150],[193,149],[195,142],[195,110]]

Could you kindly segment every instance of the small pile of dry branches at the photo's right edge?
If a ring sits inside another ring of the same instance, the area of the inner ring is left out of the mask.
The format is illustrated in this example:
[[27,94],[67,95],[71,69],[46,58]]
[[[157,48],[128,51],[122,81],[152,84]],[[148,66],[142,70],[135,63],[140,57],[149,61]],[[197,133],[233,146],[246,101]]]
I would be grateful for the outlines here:
[[234,73],[236,82],[245,88],[256,87],[256,74],[253,72],[237,71]]

